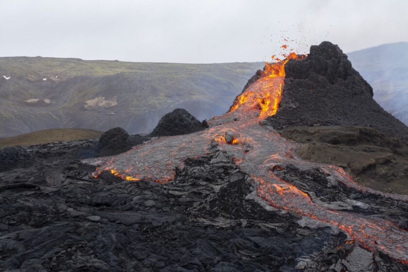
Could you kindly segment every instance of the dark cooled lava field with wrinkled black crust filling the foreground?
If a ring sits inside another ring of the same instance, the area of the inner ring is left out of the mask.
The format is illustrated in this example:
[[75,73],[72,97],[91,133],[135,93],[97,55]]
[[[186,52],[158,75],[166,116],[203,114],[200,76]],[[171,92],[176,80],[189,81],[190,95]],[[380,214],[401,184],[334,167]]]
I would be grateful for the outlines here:
[[[79,159],[96,146],[23,148],[34,165],[0,173],[1,271],[407,269],[346,244],[346,235],[325,224],[265,209],[255,182],[222,151],[186,161],[174,181],[159,184],[91,177],[94,169]],[[404,205],[382,216],[407,218]],[[365,212],[386,209],[379,202]]]

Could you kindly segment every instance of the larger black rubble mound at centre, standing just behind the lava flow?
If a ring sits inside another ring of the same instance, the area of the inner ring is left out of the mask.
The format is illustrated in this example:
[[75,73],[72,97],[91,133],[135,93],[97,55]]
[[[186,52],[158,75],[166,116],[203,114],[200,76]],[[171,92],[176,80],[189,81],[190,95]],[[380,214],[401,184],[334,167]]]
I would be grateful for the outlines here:
[[174,136],[204,130],[206,121],[200,122],[185,109],[175,109],[160,119],[150,136]]

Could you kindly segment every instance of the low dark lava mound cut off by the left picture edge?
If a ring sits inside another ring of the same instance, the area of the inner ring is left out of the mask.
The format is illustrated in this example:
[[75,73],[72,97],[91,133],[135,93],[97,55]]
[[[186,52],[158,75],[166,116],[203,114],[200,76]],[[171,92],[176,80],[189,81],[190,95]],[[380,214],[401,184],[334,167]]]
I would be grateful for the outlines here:
[[33,162],[31,155],[20,146],[5,147],[0,150],[0,172],[29,167]]

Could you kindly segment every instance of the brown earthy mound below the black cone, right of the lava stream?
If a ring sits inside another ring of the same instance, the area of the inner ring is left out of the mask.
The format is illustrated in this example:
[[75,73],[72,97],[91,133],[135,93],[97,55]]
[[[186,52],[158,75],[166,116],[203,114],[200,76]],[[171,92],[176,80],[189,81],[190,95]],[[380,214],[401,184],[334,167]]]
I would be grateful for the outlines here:
[[366,187],[408,194],[407,141],[369,127],[298,126],[281,135],[304,143],[296,150],[303,159],[342,167]]

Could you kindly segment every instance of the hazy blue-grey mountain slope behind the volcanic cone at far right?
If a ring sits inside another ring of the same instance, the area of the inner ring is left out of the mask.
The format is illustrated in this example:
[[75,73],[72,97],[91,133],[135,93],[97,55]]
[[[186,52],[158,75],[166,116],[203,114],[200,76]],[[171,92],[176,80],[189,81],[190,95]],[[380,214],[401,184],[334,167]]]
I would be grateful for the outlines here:
[[408,42],[348,53],[353,67],[374,89],[374,100],[408,125]]

